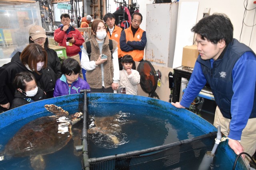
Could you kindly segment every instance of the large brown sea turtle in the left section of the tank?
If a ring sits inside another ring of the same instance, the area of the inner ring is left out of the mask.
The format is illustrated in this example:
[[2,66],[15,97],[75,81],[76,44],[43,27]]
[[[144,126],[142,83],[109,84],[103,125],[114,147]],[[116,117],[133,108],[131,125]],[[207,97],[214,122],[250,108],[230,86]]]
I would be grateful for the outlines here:
[[[62,149],[72,138],[71,127],[82,119],[82,113],[68,115],[53,104],[44,106],[56,115],[39,117],[24,125],[5,146],[4,157],[30,156],[32,168],[42,170],[45,162],[42,155]],[[2,156],[3,158],[3,156]]]

